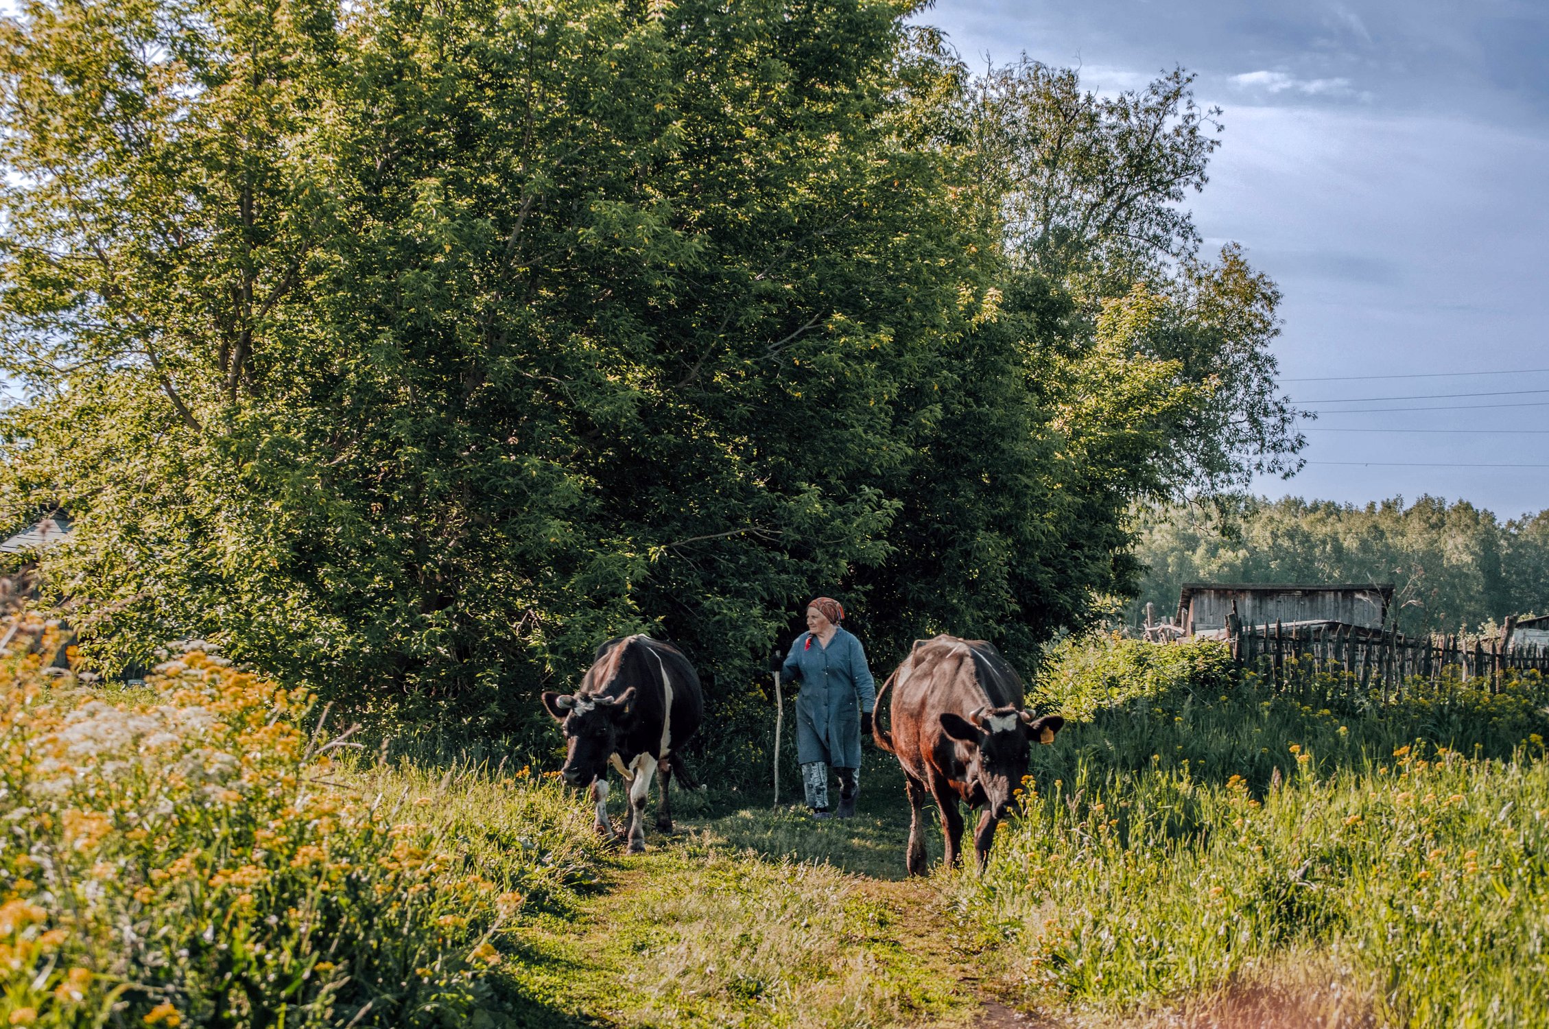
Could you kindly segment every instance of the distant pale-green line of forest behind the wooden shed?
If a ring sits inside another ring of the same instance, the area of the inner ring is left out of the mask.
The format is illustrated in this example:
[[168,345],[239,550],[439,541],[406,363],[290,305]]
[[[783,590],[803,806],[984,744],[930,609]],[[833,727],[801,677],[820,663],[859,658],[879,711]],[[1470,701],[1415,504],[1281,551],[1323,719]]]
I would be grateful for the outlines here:
[[1549,510],[1499,521],[1467,501],[1365,507],[1245,497],[1148,510],[1135,556],[1149,569],[1131,625],[1177,612],[1183,583],[1393,583],[1405,632],[1476,631],[1549,612]]

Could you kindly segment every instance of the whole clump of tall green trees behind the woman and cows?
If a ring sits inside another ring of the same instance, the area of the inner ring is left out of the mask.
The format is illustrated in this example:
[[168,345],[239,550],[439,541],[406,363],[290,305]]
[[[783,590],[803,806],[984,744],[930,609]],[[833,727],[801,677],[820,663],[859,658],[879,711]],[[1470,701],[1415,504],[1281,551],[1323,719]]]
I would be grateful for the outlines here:
[[34,0],[0,20],[0,519],[169,638],[538,733],[592,648],[711,713],[815,594],[878,668],[1134,592],[1131,510],[1297,466],[1221,112],[970,73],[898,0]]

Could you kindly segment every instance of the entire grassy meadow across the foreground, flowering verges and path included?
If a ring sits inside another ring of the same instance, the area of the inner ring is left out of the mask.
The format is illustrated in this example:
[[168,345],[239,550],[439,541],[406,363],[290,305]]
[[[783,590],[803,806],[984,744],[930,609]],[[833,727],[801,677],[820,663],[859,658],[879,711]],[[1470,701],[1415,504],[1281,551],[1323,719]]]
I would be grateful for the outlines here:
[[875,752],[852,821],[685,793],[629,857],[541,769],[389,759],[198,646],[6,657],[0,1024],[1541,1024],[1549,690],[1304,682],[1066,642],[987,874],[906,880]]

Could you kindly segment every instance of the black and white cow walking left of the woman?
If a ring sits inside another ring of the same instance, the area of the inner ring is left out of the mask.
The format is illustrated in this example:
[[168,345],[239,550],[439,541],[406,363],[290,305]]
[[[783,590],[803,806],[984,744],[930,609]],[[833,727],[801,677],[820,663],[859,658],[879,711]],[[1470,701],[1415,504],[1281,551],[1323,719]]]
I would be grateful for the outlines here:
[[646,797],[654,772],[661,773],[657,829],[672,832],[668,786],[677,769],[683,786],[696,789],[678,749],[705,716],[699,674],[683,651],[649,635],[609,640],[596,648],[575,694],[545,693],[544,707],[565,730],[565,783],[592,789],[598,832],[613,832],[607,821],[609,762],[629,789],[629,851],[646,849]]

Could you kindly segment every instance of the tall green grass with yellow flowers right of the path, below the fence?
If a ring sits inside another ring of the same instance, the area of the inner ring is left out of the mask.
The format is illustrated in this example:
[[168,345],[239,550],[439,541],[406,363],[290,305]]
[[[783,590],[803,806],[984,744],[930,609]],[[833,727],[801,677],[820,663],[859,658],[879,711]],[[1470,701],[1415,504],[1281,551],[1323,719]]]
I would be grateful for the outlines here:
[[1042,690],[1083,722],[1035,750],[1024,815],[957,886],[1029,1000],[1118,1014],[1269,989],[1309,1023],[1537,1021],[1537,674],[1414,680],[1337,714],[1222,682],[1219,643],[1143,648],[1052,656]]

